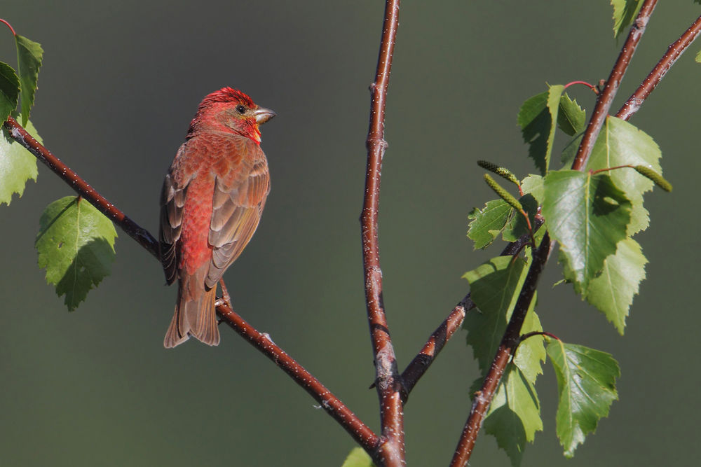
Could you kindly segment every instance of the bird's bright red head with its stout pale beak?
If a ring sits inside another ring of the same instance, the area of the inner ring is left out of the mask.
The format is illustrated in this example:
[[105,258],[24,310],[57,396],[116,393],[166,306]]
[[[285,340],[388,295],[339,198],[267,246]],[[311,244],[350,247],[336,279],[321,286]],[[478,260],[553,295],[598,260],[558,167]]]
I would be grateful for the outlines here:
[[222,88],[207,95],[200,102],[195,118],[190,123],[187,137],[189,139],[202,131],[219,130],[236,132],[260,143],[259,125],[274,116],[273,111],[257,106],[238,89]]

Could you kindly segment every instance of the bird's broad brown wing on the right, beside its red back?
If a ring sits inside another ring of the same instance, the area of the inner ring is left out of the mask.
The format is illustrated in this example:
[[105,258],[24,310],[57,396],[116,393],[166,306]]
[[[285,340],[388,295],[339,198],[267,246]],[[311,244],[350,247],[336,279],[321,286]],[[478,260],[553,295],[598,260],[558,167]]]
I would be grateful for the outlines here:
[[268,163],[257,145],[246,145],[248,157],[238,167],[240,176],[217,176],[212,204],[209,243],[214,247],[205,285],[214,287],[243,251],[258,227],[270,192]]

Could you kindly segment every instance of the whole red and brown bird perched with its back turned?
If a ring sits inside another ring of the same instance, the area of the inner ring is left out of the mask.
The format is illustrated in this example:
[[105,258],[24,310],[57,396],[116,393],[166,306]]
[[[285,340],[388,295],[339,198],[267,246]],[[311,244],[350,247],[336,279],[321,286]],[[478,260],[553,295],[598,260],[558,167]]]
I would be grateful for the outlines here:
[[178,281],[175,316],[165,347],[192,335],[219,344],[217,282],[255,232],[270,192],[259,125],[275,113],[239,90],[203,99],[163,181],[161,262]]

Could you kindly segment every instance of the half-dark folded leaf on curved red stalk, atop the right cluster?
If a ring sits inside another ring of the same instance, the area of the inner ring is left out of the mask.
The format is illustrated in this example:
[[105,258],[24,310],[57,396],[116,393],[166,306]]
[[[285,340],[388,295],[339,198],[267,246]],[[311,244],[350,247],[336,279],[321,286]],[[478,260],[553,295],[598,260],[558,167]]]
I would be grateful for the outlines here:
[[521,106],[517,118],[523,139],[529,144],[529,157],[533,159],[543,175],[547,173],[550,165],[557,113],[563,90],[562,85],[550,86],[547,92],[531,97]]

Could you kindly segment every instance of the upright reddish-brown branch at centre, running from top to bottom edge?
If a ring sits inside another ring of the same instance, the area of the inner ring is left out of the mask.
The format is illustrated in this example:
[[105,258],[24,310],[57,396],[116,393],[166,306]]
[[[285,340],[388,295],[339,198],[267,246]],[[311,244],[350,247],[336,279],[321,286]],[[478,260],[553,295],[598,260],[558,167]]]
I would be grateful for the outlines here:
[[387,0],[382,41],[375,81],[370,85],[372,97],[367,135],[367,172],[365,199],[360,223],[362,228],[362,262],[365,273],[365,302],[375,361],[375,383],[380,400],[382,445],[377,454],[385,467],[404,466],[404,410],[401,379],[397,371],[392,340],[382,301],[382,270],[377,237],[382,158],[387,147],[384,139],[385,102],[389,85],[392,54],[399,26],[400,0]]

